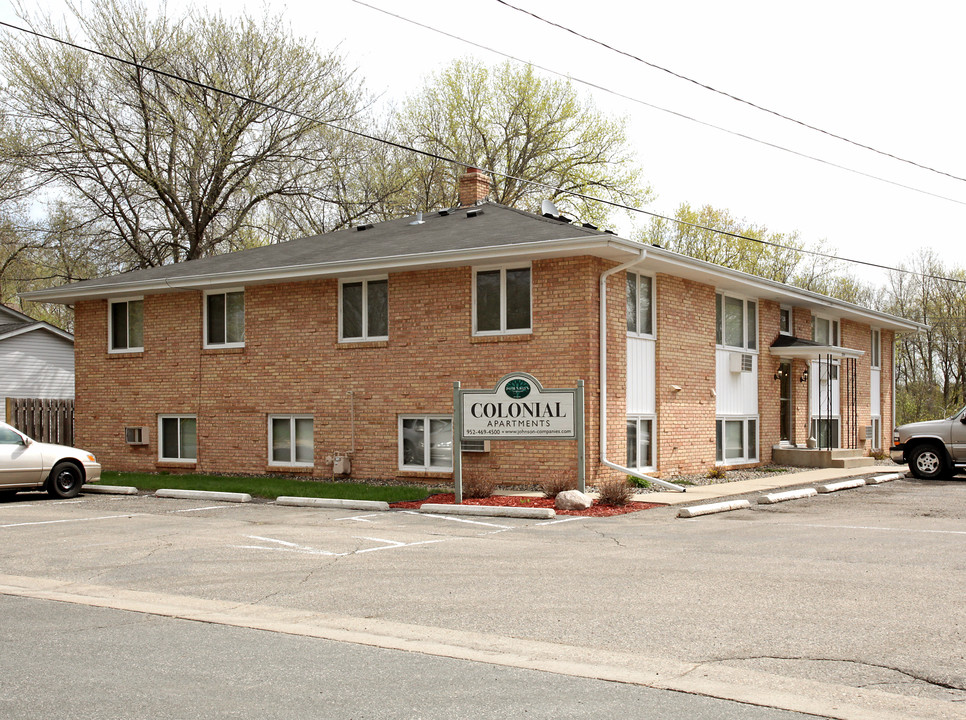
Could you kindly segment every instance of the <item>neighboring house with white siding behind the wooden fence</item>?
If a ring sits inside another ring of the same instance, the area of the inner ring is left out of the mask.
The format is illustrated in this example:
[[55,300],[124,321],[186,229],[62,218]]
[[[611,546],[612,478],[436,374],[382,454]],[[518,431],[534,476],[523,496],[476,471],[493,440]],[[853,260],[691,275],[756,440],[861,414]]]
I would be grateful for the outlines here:
[[73,398],[74,336],[0,305],[0,419],[7,398]]

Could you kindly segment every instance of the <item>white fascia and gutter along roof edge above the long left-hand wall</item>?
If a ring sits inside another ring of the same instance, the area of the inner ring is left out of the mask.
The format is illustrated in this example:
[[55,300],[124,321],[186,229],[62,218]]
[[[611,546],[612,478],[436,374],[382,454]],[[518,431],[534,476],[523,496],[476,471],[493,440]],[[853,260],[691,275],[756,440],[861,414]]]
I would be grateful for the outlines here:
[[34,302],[73,303],[78,300],[96,300],[117,297],[120,294],[162,293],[178,290],[200,290],[228,287],[231,285],[250,285],[278,281],[309,280],[324,277],[350,277],[355,274],[389,273],[413,268],[459,267],[477,265],[483,262],[507,263],[524,259],[545,257],[573,257],[576,255],[600,255],[602,257],[637,256],[640,243],[624,240],[616,236],[559,238],[538,242],[514,243],[512,245],[492,245],[472,250],[443,250],[436,252],[414,253],[411,255],[392,255],[387,257],[366,258],[352,262],[321,262],[301,265],[287,265],[256,270],[215,272],[202,275],[188,275],[181,278],[161,278],[146,281],[128,281],[97,285],[91,288],[70,286],[33,290],[20,297]]

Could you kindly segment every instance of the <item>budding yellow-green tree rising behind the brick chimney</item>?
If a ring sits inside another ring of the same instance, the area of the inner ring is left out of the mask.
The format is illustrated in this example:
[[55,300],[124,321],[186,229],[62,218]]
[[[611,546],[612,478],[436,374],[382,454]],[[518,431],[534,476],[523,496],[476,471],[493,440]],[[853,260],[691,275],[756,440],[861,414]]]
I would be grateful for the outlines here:
[[[511,207],[539,212],[549,198],[562,212],[601,224],[611,207],[568,193],[630,205],[650,197],[623,120],[596,110],[570,83],[509,62],[490,68],[458,60],[432,75],[404,103],[398,138],[492,171],[491,199]],[[457,204],[464,167],[425,156],[406,162],[410,182],[391,198],[386,214]]]

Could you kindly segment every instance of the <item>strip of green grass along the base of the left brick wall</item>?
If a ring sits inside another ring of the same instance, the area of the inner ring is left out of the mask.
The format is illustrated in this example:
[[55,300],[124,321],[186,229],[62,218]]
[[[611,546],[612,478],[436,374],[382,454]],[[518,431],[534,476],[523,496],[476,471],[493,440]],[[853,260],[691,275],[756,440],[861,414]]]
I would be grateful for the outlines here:
[[345,500],[383,500],[401,502],[422,500],[435,490],[412,485],[366,485],[352,482],[317,482],[275,477],[234,477],[224,475],[155,475],[153,473],[105,472],[102,485],[133,485],[139,490],[215,490],[244,492],[252,497],[277,498],[328,497]]

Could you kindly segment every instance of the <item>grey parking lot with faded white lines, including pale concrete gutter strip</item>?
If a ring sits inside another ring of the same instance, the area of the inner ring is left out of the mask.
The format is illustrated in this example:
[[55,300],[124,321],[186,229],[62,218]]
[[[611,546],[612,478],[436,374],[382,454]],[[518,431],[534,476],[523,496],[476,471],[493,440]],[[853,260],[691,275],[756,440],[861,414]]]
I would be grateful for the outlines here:
[[827,717],[966,717],[961,478],[695,520],[21,495],[0,547],[0,593],[25,598]]

